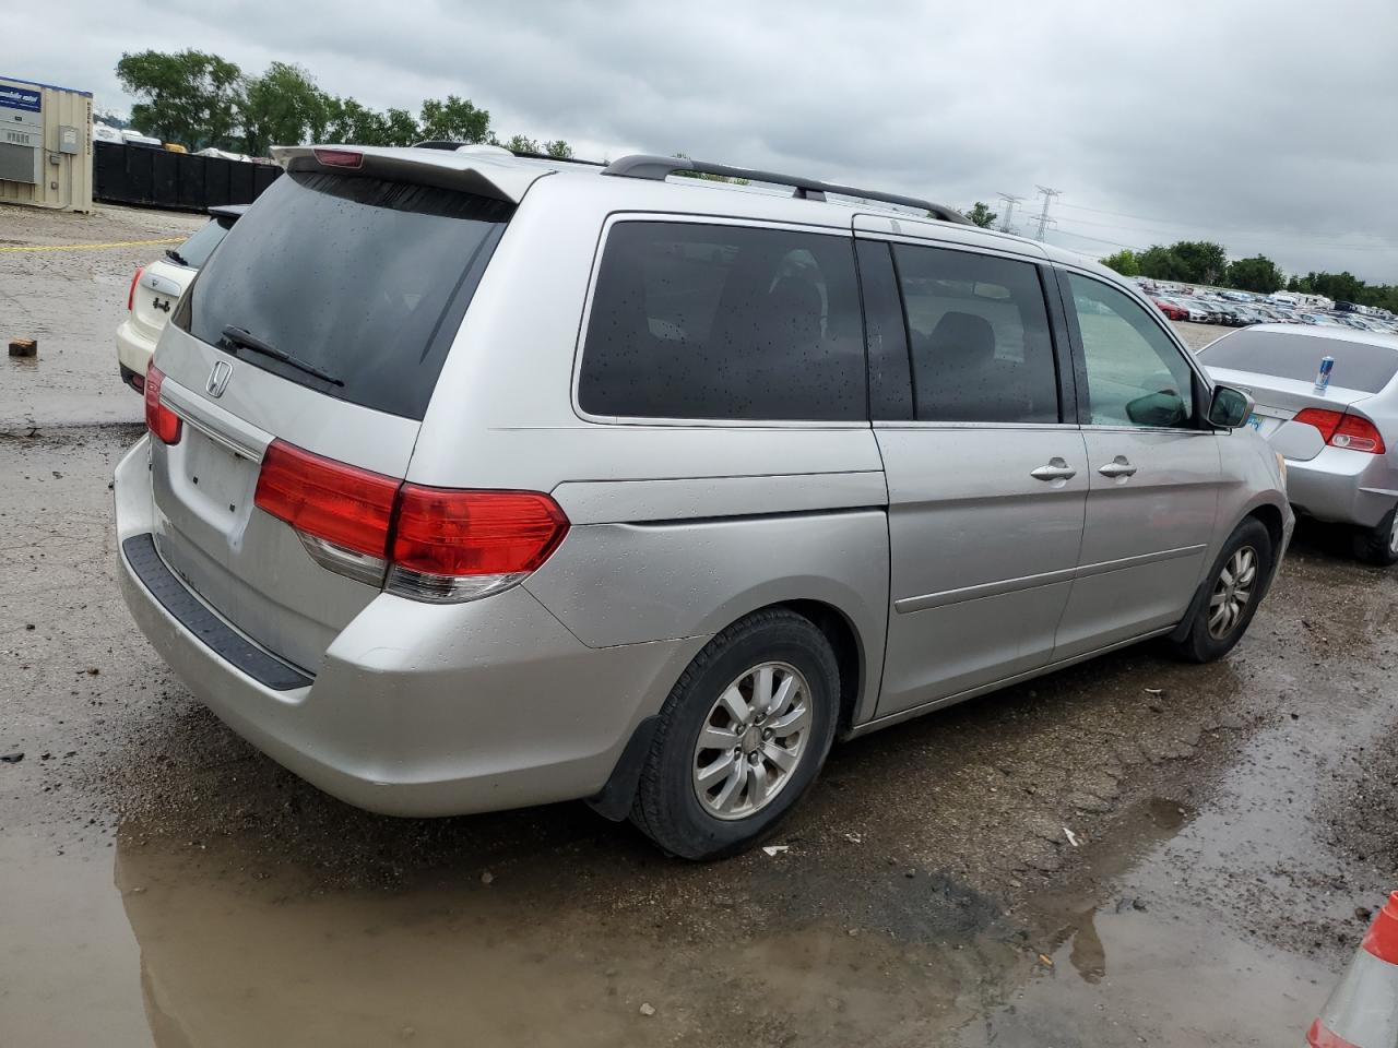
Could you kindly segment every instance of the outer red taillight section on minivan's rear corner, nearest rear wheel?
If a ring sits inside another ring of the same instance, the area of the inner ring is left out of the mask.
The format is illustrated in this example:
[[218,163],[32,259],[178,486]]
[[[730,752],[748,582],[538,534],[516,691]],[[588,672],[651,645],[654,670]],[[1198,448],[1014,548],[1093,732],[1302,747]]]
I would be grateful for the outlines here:
[[403,485],[393,563],[440,576],[533,572],[568,534],[568,517],[535,492]]

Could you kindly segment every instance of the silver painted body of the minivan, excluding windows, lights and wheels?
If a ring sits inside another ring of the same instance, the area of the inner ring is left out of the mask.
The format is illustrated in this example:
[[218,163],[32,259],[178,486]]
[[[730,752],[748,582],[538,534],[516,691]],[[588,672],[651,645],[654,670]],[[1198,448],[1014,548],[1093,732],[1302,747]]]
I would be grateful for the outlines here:
[[[116,479],[119,537],[154,532],[182,584],[313,683],[270,692],[224,662],[123,558],[143,630],[238,732],[352,803],[445,815],[591,795],[707,639],[772,604],[823,605],[844,623],[858,661],[846,728],[860,734],[1169,630],[1250,511],[1269,507],[1289,534],[1275,458],[1251,433],[625,419],[577,404],[615,222],[937,242],[1082,268],[1151,309],[1076,256],[695,180],[363,152],[379,173],[519,204],[421,423],[324,397],[169,326],[155,359],[185,436],[143,440]],[[309,147],[281,154],[310,162]],[[218,361],[235,372],[215,397]],[[252,506],[273,439],[414,483],[548,492],[572,527],[503,592],[457,605],[384,594],[322,567]],[[1128,483],[1096,474],[1123,453],[1139,458]],[[1029,475],[1060,457],[1072,478]]]

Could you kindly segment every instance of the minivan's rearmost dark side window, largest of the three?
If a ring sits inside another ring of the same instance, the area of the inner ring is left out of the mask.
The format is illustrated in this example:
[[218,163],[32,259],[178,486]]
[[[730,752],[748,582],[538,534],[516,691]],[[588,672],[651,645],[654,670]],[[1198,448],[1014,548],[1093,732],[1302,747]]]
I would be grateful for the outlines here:
[[579,404],[632,418],[865,418],[850,239],[618,222],[603,250]]

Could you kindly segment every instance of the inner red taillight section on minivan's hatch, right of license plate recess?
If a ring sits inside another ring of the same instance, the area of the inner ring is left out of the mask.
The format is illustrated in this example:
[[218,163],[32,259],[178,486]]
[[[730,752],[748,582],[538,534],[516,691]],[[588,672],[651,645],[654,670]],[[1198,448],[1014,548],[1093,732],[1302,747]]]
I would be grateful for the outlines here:
[[398,482],[274,440],[253,502],[298,531],[382,558]]

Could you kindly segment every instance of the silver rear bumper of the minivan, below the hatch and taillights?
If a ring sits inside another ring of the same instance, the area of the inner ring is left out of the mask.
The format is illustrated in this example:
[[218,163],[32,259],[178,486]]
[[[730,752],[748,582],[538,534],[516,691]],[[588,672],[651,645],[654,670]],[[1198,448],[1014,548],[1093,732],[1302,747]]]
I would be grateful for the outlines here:
[[[155,531],[147,442],[116,471],[119,549]],[[705,639],[590,648],[520,587],[461,605],[383,594],[336,637],[309,686],[275,690],[117,574],[133,618],[233,731],[348,803],[436,816],[586,798]]]

